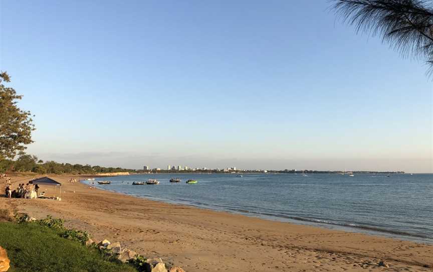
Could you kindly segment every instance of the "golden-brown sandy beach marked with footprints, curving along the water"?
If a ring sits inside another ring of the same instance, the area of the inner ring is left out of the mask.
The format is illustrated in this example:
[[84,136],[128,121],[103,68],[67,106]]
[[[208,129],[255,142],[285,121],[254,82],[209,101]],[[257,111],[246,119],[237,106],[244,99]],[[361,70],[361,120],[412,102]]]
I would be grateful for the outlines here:
[[[119,241],[191,272],[433,270],[433,245],[167,204],[68,183],[70,176],[52,178],[63,183],[62,201],[0,198],[0,207],[61,217],[96,241]],[[30,179],[13,177],[13,188]],[[381,260],[390,267],[379,267]]]

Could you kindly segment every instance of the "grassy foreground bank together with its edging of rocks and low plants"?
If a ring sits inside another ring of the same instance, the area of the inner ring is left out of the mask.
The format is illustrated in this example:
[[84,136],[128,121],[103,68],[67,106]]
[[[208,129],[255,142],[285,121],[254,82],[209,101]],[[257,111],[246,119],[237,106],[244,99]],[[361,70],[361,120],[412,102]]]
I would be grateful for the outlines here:
[[95,243],[86,231],[66,228],[63,223],[52,216],[37,220],[1,208],[0,249],[7,251],[8,271],[184,272],[178,266],[166,267],[160,258],[123,248],[119,242]]

